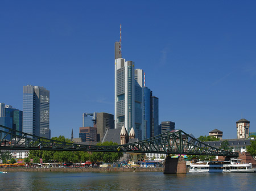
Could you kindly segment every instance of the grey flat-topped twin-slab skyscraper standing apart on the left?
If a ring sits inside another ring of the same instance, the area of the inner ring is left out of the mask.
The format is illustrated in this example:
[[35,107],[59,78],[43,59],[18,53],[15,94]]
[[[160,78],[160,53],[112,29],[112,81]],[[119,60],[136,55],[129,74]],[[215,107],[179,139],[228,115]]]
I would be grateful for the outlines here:
[[39,86],[23,86],[23,132],[51,137],[49,91]]

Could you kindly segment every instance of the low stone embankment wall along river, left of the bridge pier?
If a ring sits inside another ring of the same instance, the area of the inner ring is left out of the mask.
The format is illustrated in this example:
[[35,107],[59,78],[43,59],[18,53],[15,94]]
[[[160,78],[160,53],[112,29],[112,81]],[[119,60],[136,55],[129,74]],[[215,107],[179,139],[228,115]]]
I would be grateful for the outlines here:
[[157,168],[35,168],[35,167],[24,167],[24,168],[0,168],[0,171],[5,172],[163,172],[163,167]]

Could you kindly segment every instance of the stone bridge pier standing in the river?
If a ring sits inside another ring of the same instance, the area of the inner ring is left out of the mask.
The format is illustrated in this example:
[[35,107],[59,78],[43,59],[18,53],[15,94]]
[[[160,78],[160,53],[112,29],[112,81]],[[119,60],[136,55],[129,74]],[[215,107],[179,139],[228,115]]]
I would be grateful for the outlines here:
[[164,160],[164,174],[185,174],[187,173],[186,162],[182,157],[171,158],[167,156]]

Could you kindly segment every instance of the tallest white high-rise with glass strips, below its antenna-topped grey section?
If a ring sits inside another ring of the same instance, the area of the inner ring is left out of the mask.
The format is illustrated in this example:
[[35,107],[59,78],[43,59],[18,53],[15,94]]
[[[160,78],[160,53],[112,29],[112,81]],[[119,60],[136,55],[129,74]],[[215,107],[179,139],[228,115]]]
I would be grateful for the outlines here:
[[134,69],[134,62],[115,59],[115,129],[125,126],[135,130],[142,139],[143,128],[143,70]]

